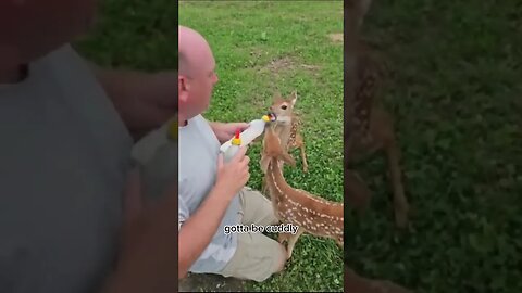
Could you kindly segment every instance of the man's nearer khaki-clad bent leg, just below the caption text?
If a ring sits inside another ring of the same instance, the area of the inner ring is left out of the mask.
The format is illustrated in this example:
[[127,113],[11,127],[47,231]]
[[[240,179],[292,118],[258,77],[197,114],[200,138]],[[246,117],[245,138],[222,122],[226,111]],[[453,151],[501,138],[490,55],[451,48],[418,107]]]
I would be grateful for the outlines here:
[[262,282],[283,270],[285,262],[286,250],[277,241],[262,233],[238,233],[236,253],[217,273]]

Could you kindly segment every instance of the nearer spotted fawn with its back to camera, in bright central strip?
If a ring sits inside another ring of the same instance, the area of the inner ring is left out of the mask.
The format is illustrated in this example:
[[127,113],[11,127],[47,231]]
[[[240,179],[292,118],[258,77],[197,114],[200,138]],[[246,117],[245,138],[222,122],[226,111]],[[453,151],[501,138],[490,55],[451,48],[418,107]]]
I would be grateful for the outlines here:
[[343,247],[344,204],[331,202],[304,190],[290,187],[283,176],[283,162],[295,166],[295,160],[283,148],[273,125],[264,130],[261,169],[279,221],[299,226],[296,234],[279,233],[281,243],[287,241],[287,259],[303,232],[334,239]]

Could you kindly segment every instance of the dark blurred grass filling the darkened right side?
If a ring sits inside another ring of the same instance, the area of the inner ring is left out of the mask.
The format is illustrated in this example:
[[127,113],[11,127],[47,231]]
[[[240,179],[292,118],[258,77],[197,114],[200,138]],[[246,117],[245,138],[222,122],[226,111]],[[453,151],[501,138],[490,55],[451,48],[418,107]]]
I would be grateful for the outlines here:
[[414,216],[396,232],[385,161],[360,168],[374,201],[345,254],[362,275],[415,292],[522,292],[521,15],[518,1],[372,7],[363,34],[391,69],[383,99]]

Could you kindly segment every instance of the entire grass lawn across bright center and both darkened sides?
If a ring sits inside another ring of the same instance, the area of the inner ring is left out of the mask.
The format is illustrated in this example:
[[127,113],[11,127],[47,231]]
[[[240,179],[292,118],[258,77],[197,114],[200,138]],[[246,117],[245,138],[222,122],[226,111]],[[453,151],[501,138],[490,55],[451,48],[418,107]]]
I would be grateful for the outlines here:
[[[364,24],[390,68],[382,98],[397,119],[411,231],[394,229],[377,156],[359,168],[374,198],[348,225],[344,257],[332,241],[303,235],[286,270],[250,289],[340,291],[344,258],[415,292],[522,292],[522,8],[482,2],[376,1]],[[99,26],[77,48],[103,65],[175,68],[176,14],[171,0],[102,1]],[[285,175],[341,201],[343,48],[328,38],[343,29],[340,1],[184,2],[179,16],[217,61],[221,81],[206,116],[251,120],[276,89],[297,89],[310,171],[301,173],[295,152],[298,167]],[[249,150],[253,163],[259,150]],[[258,164],[251,174],[260,188]]]

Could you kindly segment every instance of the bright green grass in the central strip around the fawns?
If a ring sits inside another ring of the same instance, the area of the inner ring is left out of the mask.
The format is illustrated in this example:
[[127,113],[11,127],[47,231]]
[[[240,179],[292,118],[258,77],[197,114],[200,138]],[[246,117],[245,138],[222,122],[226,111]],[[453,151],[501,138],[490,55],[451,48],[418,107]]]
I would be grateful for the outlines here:
[[[179,24],[200,31],[217,63],[220,82],[206,117],[249,122],[266,112],[276,90],[296,89],[296,111],[303,118],[310,169],[303,174],[299,152],[296,168],[286,167],[287,181],[343,201],[343,43],[328,34],[343,31],[341,2],[184,2]],[[282,60],[284,62],[282,62]],[[282,66],[271,69],[271,62]],[[249,186],[261,188],[260,145],[248,155]],[[343,253],[325,239],[303,235],[281,275],[254,291],[341,291]]]

